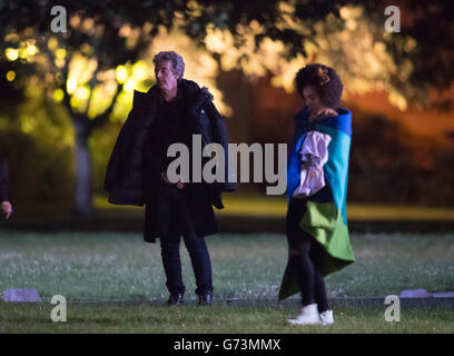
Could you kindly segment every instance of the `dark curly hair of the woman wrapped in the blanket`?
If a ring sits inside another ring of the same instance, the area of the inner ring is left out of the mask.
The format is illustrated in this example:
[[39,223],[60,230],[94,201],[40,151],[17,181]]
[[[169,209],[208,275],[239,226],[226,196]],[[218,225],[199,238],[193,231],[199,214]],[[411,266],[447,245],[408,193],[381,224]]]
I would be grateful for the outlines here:
[[303,97],[303,88],[312,86],[327,107],[337,108],[340,105],[343,85],[333,68],[318,63],[307,65],[298,71],[295,81],[300,97]]

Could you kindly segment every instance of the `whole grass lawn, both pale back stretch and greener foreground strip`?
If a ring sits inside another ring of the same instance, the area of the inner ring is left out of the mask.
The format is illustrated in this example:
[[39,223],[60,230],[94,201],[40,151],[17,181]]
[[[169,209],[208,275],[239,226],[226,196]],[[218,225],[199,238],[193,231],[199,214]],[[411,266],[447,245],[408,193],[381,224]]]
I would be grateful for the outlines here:
[[[207,244],[218,303],[203,309],[194,305],[196,287],[182,248],[188,305],[167,308],[160,306],[168,294],[159,245],[144,243],[140,234],[0,230],[0,291],[36,288],[45,301],[0,303],[0,333],[454,332],[452,305],[403,305],[401,323],[386,323],[386,306],[344,301],[335,301],[333,327],[292,328],[285,319],[296,313],[297,299],[275,303],[286,264],[285,236],[217,235]],[[357,261],[326,278],[334,300],[413,288],[454,290],[454,235],[352,235],[352,245]],[[50,322],[53,295],[67,298],[66,324]],[[268,303],[221,301],[226,299]]]

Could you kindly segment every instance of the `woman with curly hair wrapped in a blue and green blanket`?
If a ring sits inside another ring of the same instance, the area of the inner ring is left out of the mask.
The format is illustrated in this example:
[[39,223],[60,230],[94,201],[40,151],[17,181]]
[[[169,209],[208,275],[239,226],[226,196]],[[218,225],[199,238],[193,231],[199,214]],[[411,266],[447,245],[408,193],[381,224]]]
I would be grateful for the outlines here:
[[306,106],[295,117],[288,158],[289,251],[279,300],[300,291],[302,310],[287,322],[330,325],[324,277],[355,260],[345,204],[352,112],[339,107],[343,85],[329,67],[304,67],[296,88]]

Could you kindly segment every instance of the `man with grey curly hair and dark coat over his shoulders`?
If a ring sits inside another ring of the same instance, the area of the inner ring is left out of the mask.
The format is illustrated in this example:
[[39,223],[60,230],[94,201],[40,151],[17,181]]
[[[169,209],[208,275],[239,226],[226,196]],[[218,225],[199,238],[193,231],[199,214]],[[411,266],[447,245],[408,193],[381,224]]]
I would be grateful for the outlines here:
[[[112,204],[146,205],[144,239],[155,243],[160,238],[170,293],[168,305],[184,303],[181,236],[196,277],[199,305],[209,305],[214,288],[205,236],[218,231],[213,206],[224,208],[221,192],[235,190],[236,185],[228,180],[171,182],[167,177],[171,162],[167,150],[177,142],[186,145],[190,155],[188,166],[193,167],[193,136],[200,135],[204,147],[217,142],[227,151],[227,130],[213,96],[196,82],[182,79],[181,56],[162,51],[155,56],[154,62],[156,86],[147,93],[135,91],[132,110],[109,161],[105,189]],[[227,160],[225,171],[228,175]]]

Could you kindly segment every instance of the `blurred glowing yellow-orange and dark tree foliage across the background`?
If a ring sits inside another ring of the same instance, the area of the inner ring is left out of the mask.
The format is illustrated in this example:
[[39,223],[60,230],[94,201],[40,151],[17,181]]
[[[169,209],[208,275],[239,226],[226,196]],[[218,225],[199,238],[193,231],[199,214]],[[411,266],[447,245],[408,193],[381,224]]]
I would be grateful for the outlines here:
[[[49,29],[56,4],[68,11],[66,33]],[[240,69],[249,79],[270,73],[274,86],[292,91],[295,72],[314,61],[336,68],[347,91],[385,90],[403,110],[408,100],[427,105],[427,90],[446,88],[454,77],[447,1],[399,1],[401,33],[384,31],[385,6],[378,0],[3,0],[0,128],[56,142],[66,152],[78,137],[103,127],[90,138],[99,189],[132,90],[154,83],[151,58],[164,49],[184,55],[187,77],[209,87],[226,116],[234,112],[217,88],[221,70]],[[441,162],[451,165],[451,158]],[[417,196],[420,186],[408,196]]]

